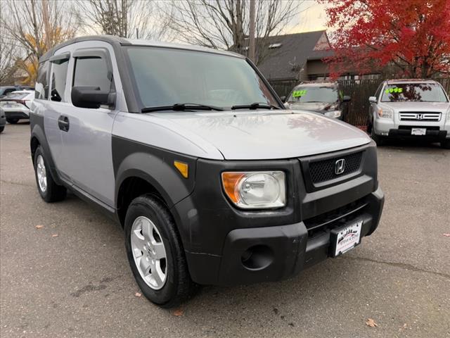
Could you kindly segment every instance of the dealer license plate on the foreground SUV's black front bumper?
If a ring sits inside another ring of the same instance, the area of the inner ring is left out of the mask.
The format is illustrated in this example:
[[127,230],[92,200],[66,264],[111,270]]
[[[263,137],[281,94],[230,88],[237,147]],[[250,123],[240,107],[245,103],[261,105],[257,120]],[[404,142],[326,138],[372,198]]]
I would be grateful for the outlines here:
[[330,232],[330,256],[337,257],[361,242],[362,220],[354,220]]

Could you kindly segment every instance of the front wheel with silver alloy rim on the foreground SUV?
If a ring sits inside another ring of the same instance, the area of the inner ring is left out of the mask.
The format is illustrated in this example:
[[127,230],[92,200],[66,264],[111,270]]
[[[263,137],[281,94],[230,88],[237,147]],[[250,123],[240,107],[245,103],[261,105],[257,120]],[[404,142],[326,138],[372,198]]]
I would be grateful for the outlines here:
[[143,295],[163,308],[191,298],[197,285],[189,275],[172,215],[162,201],[151,195],[131,201],[124,227],[128,261]]

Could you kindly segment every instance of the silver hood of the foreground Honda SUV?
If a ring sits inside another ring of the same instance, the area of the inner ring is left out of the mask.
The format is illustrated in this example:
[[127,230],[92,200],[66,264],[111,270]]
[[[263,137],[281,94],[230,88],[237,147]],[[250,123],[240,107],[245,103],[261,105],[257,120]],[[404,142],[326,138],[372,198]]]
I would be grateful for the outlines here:
[[[227,160],[295,158],[368,144],[365,132],[307,111],[149,113],[153,123]],[[205,158],[214,158],[205,154]]]

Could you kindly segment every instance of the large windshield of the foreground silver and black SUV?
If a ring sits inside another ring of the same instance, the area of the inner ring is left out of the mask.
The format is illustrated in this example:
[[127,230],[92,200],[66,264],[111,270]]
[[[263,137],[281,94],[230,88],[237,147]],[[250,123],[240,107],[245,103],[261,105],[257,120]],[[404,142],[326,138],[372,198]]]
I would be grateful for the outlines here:
[[[201,104],[219,108],[278,103],[243,58],[152,47],[128,47],[142,107]],[[193,108],[195,109],[195,108]]]

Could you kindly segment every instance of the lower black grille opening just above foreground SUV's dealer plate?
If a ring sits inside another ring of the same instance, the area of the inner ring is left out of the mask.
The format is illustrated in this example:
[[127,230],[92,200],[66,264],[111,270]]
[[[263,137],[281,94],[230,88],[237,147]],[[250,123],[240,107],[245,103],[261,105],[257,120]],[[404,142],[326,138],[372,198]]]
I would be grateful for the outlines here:
[[348,220],[352,220],[358,215],[361,215],[366,211],[366,206],[368,201],[366,197],[354,201],[345,206],[341,206],[328,213],[323,213],[321,215],[316,215],[312,218],[304,220],[303,223],[307,227],[309,237],[314,237],[315,234],[323,232],[326,230],[333,229]]

